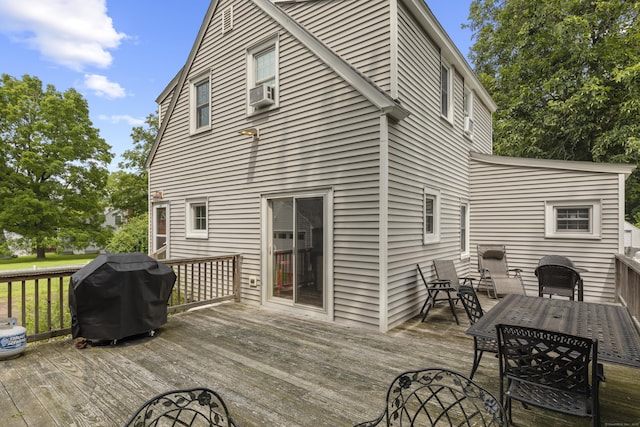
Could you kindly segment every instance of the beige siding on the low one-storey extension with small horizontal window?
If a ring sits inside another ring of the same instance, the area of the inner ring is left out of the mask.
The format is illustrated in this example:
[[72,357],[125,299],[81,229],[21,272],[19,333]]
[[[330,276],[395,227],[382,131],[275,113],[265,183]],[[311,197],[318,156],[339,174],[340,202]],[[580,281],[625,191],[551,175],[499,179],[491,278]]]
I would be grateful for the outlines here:
[[[471,162],[471,243],[474,263],[478,243],[507,247],[510,267],[522,268],[529,295],[538,295],[534,274],[545,255],[569,257],[588,272],[585,301],[613,302],[614,255],[620,236],[619,175],[544,167]],[[545,238],[545,201],[601,200],[601,238]],[[476,266],[477,264],[474,264]]]

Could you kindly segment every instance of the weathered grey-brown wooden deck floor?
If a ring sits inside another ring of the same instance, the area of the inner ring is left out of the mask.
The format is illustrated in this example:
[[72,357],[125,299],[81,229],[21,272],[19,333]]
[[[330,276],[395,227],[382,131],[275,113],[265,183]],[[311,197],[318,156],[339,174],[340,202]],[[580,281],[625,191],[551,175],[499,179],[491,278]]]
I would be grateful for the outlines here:
[[[490,301],[482,300],[485,306]],[[447,367],[468,374],[466,315],[444,304],[386,334],[226,303],[170,316],[154,338],[79,350],[71,339],[29,345],[0,361],[0,426],[119,426],[155,394],[217,390],[241,426],[351,426],[375,418],[400,372]],[[605,364],[602,425],[640,425],[640,370]],[[475,380],[498,393],[485,354]],[[590,425],[514,405],[516,425]]]

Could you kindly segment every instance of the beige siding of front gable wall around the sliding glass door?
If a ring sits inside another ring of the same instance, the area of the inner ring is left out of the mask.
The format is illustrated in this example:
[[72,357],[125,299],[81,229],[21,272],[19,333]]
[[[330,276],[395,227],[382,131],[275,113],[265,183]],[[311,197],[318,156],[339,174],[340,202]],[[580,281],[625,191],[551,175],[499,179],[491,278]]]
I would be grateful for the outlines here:
[[[251,2],[234,3],[221,35],[221,1],[150,167],[150,189],[170,204],[172,258],[242,254],[241,298],[259,303],[260,197],[333,189],[334,318],[378,327],[379,115],[313,53]],[[280,107],[246,115],[246,50],[279,35]],[[212,128],[189,135],[189,78],[212,76]],[[260,128],[260,140],[239,135]],[[208,198],[208,239],[185,237],[185,201]],[[262,283],[260,283],[262,285]]]

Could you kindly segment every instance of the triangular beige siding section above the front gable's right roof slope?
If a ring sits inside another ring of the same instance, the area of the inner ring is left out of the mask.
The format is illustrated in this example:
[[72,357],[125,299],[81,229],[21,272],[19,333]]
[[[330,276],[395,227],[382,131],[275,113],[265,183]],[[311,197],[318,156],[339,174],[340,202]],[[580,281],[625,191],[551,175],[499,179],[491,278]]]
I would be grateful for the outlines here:
[[390,91],[389,0],[309,0],[278,5],[380,89]]

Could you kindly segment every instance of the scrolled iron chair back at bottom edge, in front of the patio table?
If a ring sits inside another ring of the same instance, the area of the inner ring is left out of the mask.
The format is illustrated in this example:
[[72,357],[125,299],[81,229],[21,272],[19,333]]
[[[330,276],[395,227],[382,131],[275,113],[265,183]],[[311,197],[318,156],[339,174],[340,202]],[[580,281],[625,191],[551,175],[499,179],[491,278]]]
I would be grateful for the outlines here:
[[488,390],[469,378],[442,368],[407,371],[387,391],[384,411],[373,426],[502,426],[502,405]]

